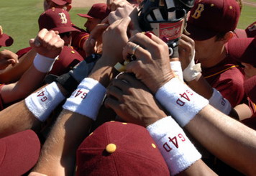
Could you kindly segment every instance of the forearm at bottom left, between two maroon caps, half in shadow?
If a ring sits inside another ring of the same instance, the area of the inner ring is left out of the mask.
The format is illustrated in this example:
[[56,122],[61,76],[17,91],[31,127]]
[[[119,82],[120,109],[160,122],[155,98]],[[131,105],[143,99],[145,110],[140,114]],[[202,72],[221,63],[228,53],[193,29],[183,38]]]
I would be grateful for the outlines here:
[[34,170],[46,175],[71,175],[76,149],[88,134],[90,126],[91,119],[63,110],[42,147]]

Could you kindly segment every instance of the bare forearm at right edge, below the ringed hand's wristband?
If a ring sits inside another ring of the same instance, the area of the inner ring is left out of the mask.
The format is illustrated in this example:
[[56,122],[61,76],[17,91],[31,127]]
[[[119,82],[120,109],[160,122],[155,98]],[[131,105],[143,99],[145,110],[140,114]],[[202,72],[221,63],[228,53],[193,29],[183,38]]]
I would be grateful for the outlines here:
[[206,149],[246,175],[255,174],[256,133],[206,106],[185,127]]

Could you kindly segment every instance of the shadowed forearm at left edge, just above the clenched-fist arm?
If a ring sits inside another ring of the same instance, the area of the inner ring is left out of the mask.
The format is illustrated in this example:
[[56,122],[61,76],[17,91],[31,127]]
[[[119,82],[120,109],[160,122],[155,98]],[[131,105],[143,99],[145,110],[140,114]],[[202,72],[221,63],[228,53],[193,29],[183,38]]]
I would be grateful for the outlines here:
[[13,83],[19,80],[19,78],[21,78],[22,75],[32,65],[36,53],[37,52],[35,52],[35,50],[32,49],[19,58],[19,63],[17,65],[15,65],[14,67],[12,65],[9,65],[9,67],[6,68],[3,73],[0,74],[0,82]]

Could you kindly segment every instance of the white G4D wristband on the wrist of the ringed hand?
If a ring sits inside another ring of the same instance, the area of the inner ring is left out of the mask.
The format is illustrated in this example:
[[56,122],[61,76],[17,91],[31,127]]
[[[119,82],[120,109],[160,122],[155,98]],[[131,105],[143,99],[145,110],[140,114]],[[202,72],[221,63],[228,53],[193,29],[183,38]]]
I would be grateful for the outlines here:
[[155,97],[182,127],[209,103],[206,98],[199,96],[178,78],[165,83],[158,89]]

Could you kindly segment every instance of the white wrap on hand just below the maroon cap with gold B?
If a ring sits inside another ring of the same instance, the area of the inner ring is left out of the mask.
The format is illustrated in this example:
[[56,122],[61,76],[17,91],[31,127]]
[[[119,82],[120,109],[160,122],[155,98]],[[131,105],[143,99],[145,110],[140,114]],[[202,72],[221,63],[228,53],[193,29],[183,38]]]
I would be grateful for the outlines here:
[[188,66],[183,70],[183,77],[186,81],[196,79],[196,76],[201,73],[201,64],[195,64],[195,51],[193,52],[192,60]]

